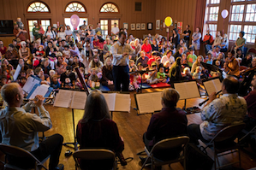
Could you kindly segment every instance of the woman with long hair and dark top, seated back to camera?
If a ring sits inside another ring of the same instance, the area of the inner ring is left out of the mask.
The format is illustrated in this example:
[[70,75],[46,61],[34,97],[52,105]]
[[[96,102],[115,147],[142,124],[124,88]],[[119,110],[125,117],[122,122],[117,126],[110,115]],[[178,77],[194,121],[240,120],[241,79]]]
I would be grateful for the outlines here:
[[[111,149],[121,160],[122,166],[127,165],[122,156],[122,138],[116,123],[110,118],[108,105],[100,91],[92,91],[87,97],[85,114],[78,122],[76,134],[80,149]],[[93,167],[90,167],[92,164]],[[110,169],[111,166],[112,163],[107,164],[104,161],[97,163],[80,160],[82,169]]]

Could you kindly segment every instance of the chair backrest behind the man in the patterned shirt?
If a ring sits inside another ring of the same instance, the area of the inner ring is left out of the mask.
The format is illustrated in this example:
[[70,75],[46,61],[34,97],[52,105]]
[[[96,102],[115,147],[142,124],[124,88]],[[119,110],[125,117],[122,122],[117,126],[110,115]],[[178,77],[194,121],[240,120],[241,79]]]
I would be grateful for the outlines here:
[[234,124],[224,127],[221,131],[217,132],[214,138],[211,141],[222,142],[226,139],[233,138],[244,128],[245,123]]

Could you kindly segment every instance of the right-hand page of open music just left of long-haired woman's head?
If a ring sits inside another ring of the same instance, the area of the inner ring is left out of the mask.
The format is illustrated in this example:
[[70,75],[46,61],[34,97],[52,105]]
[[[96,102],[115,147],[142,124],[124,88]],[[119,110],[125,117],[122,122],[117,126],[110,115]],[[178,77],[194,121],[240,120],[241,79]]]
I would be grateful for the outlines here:
[[83,91],[73,91],[72,95],[72,101],[70,104],[70,108],[75,108],[75,109],[85,109],[86,106],[86,92]]

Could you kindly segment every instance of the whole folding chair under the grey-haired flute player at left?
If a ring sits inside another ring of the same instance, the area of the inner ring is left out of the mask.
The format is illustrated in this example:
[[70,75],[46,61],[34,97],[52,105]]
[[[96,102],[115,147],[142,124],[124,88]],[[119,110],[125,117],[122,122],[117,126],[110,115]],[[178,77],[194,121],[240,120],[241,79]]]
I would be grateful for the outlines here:
[[[38,170],[38,169],[41,169],[41,167],[43,167],[45,170],[48,170],[43,165],[43,163],[45,163],[45,161],[47,161],[47,159],[50,156],[45,158],[44,161],[39,161],[34,155],[32,155],[26,149],[21,149],[19,147],[7,145],[7,144],[0,144],[0,150],[3,152],[3,154],[5,154],[5,162],[3,162],[4,169],[27,170],[27,169],[24,169],[24,168],[21,168],[21,167],[16,167],[15,165],[12,165],[12,164],[7,162],[7,155],[13,155],[13,156],[16,156],[16,157],[33,159],[35,162],[34,162],[34,167],[32,169]],[[29,169],[31,169],[31,168],[29,168]]]

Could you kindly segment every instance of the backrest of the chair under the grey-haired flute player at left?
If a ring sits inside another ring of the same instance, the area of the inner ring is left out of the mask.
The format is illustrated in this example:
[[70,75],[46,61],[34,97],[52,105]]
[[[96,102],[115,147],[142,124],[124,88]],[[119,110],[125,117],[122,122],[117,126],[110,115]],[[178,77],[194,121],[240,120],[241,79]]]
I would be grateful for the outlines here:
[[[26,149],[21,149],[16,146],[11,146],[7,144],[0,144],[0,150],[5,155],[14,155],[16,157],[30,157],[35,158],[30,152],[28,152]],[[35,158],[36,159],[36,158]],[[37,159],[35,160],[37,161]]]

